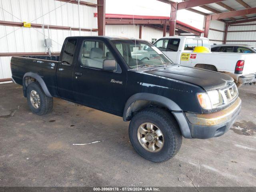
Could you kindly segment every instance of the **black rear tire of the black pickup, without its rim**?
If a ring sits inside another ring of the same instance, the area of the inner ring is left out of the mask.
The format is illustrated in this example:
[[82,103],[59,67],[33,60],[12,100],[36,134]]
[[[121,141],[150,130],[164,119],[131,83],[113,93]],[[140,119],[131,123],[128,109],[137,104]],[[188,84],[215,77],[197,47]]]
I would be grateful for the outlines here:
[[[40,98],[40,106],[35,108],[30,100],[31,91],[36,91]],[[37,115],[45,115],[52,110],[53,107],[53,98],[46,96],[38,82],[32,82],[27,87],[27,101],[30,110]]]

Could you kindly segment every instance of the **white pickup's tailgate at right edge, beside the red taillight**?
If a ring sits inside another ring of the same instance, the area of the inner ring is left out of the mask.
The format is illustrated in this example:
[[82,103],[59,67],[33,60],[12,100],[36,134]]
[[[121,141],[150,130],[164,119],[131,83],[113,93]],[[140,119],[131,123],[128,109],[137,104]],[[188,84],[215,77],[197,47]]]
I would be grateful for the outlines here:
[[244,70],[243,75],[256,73],[256,53],[243,54]]

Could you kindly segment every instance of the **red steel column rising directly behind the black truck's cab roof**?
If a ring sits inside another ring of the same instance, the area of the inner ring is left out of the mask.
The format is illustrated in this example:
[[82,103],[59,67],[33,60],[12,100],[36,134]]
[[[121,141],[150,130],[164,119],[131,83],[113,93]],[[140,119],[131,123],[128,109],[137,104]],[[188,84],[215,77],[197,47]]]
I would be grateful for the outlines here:
[[105,35],[105,0],[97,0],[98,35]]

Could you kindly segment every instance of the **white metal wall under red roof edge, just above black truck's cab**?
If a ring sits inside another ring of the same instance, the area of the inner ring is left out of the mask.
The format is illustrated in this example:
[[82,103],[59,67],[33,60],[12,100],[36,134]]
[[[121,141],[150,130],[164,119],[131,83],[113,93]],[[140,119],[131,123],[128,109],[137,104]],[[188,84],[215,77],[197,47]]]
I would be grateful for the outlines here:
[[[106,25],[106,35],[108,36],[123,36],[131,38],[139,38],[139,26],[133,25]],[[161,30],[142,26],[142,39],[148,40],[159,39],[163,36]]]

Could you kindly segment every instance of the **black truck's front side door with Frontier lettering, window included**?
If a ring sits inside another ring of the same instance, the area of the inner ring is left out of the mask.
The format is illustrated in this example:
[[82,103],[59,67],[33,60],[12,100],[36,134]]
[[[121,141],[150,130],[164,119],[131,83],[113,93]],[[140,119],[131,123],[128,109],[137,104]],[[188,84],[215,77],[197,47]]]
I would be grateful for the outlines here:
[[76,102],[121,115],[126,96],[126,73],[118,62],[115,71],[103,69],[104,60],[116,60],[105,42],[85,39],[81,47],[73,72]]

